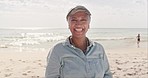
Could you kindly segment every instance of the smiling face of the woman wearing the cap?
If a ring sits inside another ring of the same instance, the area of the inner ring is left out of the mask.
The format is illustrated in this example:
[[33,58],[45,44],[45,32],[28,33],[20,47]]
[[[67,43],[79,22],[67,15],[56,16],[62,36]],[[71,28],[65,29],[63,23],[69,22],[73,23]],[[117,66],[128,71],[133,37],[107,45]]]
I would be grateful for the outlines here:
[[85,12],[77,12],[68,18],[69,29],[72,37],[85,37],[89,29],[90,16]]

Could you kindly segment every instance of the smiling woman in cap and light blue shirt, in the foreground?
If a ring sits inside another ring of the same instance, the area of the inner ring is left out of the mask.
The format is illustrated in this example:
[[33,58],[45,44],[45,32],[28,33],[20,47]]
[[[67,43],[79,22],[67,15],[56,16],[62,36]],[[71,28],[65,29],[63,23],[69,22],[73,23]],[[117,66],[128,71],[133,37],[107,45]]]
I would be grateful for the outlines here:
[[45,78],[112,78],[103,46],[86,37],[89,10],[76,6],[66,19],[71,35],[51,48]]

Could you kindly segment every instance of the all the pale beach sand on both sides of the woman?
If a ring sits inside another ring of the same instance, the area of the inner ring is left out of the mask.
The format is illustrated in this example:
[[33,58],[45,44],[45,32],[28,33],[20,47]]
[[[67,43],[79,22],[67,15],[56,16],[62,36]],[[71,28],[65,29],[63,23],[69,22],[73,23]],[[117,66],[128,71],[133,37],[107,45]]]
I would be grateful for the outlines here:
[[[44,52],[0,50],[0,78],[44,78]],[[148,78],[147,47],[106,49],[113,78]]]

